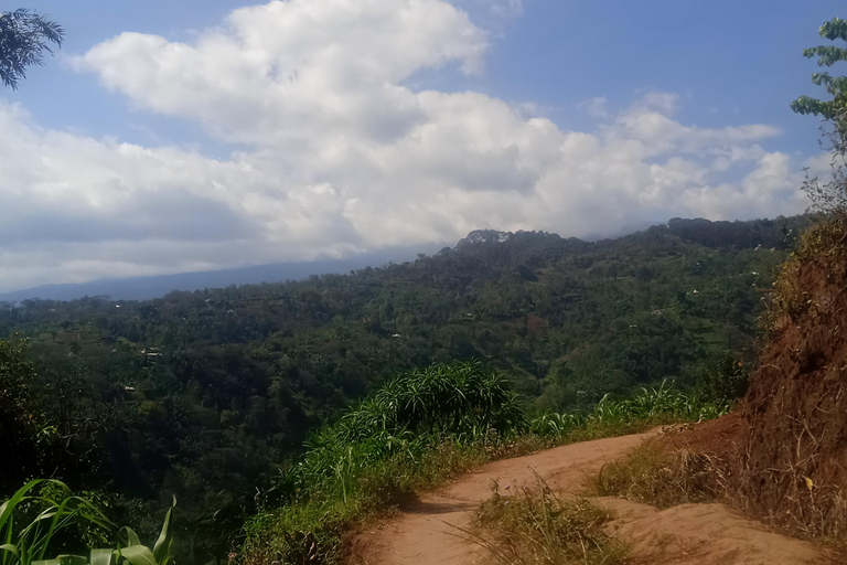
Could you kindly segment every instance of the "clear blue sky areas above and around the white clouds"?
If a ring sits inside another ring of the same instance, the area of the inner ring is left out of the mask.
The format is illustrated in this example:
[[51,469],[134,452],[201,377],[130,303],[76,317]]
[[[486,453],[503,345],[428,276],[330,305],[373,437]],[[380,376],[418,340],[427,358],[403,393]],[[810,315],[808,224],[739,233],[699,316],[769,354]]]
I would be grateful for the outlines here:
[[[191,40],[196,31],[218,25],[239,0],[163,0],[67,2],[44,0],[17,6],[49,13],[68,34],[63,53],[84,53],[124,31]],[[774,147],[816,149],[817,125],[793,115],[789,103],[814,94],[814,62],[802,57],[821,43],[817,26],[843,14],[834,0],[680,0],[566,1],[527,0],[519,13],[496,19],[485,2],[460,7],[491,24],[496,36],[485,73],[464,77],[432,72],[427,86],[444,90],[473,88],[508,100],[535,102],[560,127],[590,128],[580,103],[605,97],[623,107],[639,92],[661,90],[686,97],[680,117],[701,126],[768,122],[784,130]],[[443,71],[443,70],[441,70]],[[62,92],[62,96],[56,96]],[[18,93],[19,100],[44,126],[93,135],[118,135],[149,142],[146,131],[179,142],[208,142],[190,121],[174,124],[136,111],[127,100],[74,73],[58,61],[35,68]],[[226,147],[216,147],[226,150]]]

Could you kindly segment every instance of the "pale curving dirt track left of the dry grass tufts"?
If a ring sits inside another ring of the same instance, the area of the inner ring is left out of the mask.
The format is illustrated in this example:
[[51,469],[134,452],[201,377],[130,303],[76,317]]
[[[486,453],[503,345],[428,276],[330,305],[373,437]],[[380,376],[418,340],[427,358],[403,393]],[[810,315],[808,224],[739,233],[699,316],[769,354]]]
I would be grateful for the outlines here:
[[586,477],[631,449],[655,431],[571,444],[525,457],[483,466],[438,492],[404,509],[382,530],[368,531],[356,544],[366,565],[468,565],[487,557],[454,526],[468,527],[473,511],[491,497],[492,481],[501,487],[533,482],[533,471],[557,492],[576,492]]

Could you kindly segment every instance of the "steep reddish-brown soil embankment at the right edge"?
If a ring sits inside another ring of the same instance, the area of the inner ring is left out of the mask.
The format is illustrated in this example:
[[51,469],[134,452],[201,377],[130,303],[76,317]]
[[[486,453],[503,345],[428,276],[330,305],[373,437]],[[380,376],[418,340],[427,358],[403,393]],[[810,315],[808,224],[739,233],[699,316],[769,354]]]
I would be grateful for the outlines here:
[[730,484],[748,510],[810,535],[847,534],[847,224],[804,234],[780,276],[741,405]]

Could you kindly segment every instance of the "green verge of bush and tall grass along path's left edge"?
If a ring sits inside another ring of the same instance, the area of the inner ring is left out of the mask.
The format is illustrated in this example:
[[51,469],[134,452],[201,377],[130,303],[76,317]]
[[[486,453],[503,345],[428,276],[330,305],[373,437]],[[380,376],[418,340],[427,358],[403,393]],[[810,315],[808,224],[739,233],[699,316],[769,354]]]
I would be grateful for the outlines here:
[[403,373],[312,436],[276,482],[277,508],[246,524],[240,559],[339,563],[354,524],[486,460],[728,409],[662,383],[604,397],[588,414],[527,418],[506,382],[478,363]]

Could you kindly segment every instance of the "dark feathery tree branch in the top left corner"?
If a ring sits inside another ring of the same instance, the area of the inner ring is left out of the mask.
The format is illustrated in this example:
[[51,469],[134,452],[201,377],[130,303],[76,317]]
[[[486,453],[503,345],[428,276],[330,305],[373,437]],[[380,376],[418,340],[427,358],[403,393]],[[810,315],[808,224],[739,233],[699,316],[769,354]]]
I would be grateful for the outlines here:
[[12,89],[26,77],[26,67],[44,64],[50,44],[62,46],[65,30],[37,12],[20,9],[0,13],[0,81]]

